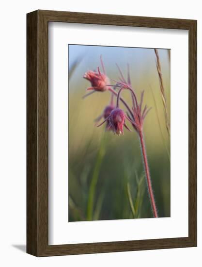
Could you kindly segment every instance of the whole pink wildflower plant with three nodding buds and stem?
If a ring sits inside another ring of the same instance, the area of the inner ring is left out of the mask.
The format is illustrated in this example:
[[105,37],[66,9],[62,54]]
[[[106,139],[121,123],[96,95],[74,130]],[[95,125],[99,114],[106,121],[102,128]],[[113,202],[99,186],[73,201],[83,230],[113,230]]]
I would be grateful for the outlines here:
[[[129,66],[128,66],[127,81],[126,81],[120,67],[117,65],[121,78],[120,78],[120,81],[113,80],[114,82],[116,82],[116,84],[111,85],[109,84],[109,78],[106,76],[102,58],[101,58],[101,65],[102,65],[102,69],[104,73],[101,73],[98,67],[97,68],[98,72],[88,71],[84,75],[84,78],[89,80],[92,85],[92,87],[88,89],[93,90],[93,92],[95,91],[104,92],[107,90],[111,92],[110,104],[105,107],[103,114],[96,119],[96,121],[99,121],[103,117],[104,121],[101,122],[99,125],[97,125],[97,127],[106,123],[106,131],[112,131],[114,134],[120,135],[120,134],[124,134],[124,131],[123,131],[124,127],[128,131],[131,132],[131,130],[125,124],[125,120],[127,119],[131,123],[132,127],[134,128],[135,132],[137,132],[140,138],[140,148],[141,148],[142,157],[143,157],[143,166],[144,166],[145,177],[147,181],[149,198],[151,201],[151,207],[152,207],[154,217],[158,217],[154,192],[152,188],[152,181],[151,181],[151,176],[150,176],[150,171],[149,171],[149,164],[148,164],[148,159],[147,159],[147,154],[146,154],[144,134],[143,134],[144,119],[147,116],[151,108],[148,108],[147,105],[145,105],[144,108],[142,108],[144,91],[141,92],[140,102],[138,101],[136,93],[131,87]],[[113,88],[118,88],[119,89],[118,93]],[[123,98],[121,98],[121,92],[123,90],[128,90],[130,92],[131,99],[132,99],[132,108],[130,108],[127,102]],[[114,96],[117,97],[116,107],[114,106],[114,103],[113,103]],[[122,101],[124,106],[126,107],[127,109],[126,114],[119,107],[119,101]]]

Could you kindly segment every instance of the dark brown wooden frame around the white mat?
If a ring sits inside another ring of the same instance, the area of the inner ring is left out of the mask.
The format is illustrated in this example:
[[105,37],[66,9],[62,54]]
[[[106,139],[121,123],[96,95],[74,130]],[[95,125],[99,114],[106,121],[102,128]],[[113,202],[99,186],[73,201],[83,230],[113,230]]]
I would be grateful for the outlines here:
[[[48,22],[188,30],[188,237],[48,245]],[[27,253],[56,256],[197,246],[197,21],[37,10],[27,14]]]

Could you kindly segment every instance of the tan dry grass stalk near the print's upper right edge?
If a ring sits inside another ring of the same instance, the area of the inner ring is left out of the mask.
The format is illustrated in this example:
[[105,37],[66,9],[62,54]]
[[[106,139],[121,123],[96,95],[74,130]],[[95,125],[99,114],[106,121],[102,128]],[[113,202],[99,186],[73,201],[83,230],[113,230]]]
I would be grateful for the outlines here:
[[163,106],[164,106],[166,129],[168,131],[168,134],[170,135],[171,134],[171,126],[170,126],[169,117],[168,117],[167,100],[166,100],[166,94],[165,94],[165,89],[164,89],[164,85],[163,85],[163,77],[162,77],[161,65],[160,65],[160,60],[159,60],[159,55],[158,55],[157,49],[155,49],[155,56],[156,56],[156,68],[157,68],[157,72],[158,72],[158,78],[159,78],[159,84],[160,84],[160,90],[161,90],[161,97],[162,97]]

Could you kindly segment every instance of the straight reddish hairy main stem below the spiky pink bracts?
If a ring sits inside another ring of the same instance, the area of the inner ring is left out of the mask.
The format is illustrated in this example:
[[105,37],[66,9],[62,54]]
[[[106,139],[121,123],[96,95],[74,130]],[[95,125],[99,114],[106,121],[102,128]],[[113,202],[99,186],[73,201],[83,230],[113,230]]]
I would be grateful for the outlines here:
[[139,132],[139,135],[140,135],[140,144],[141,144],[141,150],[142,150],[142,155],[143,155],[143,160],[144,160],[144,170],[145,170],[146,179],[147,179],[148,192],[149,192],[149,197],[150,197],[151,205],[152,205],[152,211],[153,211],[154,217],[158,217],[157,209],[155,206],[155,197],[154,197],[154,193],[152,189],[152,182],[151,182],[151,177],[150,177],[150,172],[149,172],[149,165],[147,161],[147,154],[146,154],[146,148],[145,148],[142,130]]

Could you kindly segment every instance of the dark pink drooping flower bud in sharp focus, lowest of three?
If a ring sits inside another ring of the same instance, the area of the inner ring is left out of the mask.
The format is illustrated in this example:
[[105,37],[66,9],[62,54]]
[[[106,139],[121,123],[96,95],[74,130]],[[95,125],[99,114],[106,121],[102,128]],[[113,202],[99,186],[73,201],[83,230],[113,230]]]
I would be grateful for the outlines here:
[[120,108],[115,108],[111,111],[109,117],[109,123],[112,128],[112,131],[115,134],[124,134],[124,123],[125,123],[125,114],[124,111]]

